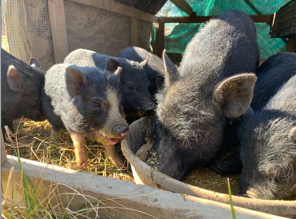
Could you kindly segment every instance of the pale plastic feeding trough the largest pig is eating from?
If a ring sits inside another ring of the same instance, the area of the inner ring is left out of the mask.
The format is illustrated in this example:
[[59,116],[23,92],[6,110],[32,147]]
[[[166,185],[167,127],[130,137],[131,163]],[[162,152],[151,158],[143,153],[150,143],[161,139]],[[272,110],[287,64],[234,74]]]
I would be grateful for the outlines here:
[[[154,170],[135,155],[134,152],[144,144],[144,138],[147,131],[148,133],[153,134],[154,126],[155,123],[153,117],[139,119],[130,125],[128,135],[121,142],[123,155],[132,166],[135,182],[137,184],[144,184],[152,187],[164,188],[173,192],[188,194],[202,198],[203,200],[206,199],[221,203],[229,203],[228,194],[210,191],[175,180]],[[262,200],[239,196],[232,196],[232,199],[235,206],[288,218],[296,218],[296,200]]]

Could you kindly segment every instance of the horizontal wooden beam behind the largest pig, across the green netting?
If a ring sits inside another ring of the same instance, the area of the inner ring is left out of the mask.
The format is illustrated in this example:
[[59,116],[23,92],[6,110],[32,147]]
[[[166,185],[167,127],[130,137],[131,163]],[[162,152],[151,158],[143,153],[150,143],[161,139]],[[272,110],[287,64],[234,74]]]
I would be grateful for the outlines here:
[[[194,17],[159,17],[164,23],[204,23],[214,18],[215,16],[194,16]],[[255,23],[272,22],[273,14],[269,15],[250,15]]]

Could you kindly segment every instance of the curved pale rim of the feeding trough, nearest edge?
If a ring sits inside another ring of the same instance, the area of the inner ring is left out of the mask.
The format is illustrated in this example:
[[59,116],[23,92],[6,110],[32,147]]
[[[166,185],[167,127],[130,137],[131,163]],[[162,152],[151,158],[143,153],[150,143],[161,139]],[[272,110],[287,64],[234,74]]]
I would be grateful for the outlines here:
[[[130,125],[130,131],[134,130],[134,126],[139,125],[139,121],[143,121],[144,118],[139,119],[133,122]],[[140,128],[140,127],[139,127]],[[129,132],[130,132],[129,131]],[[129,135],[129,132],[127,135]],[[229,204],[229,195],[215,192],[211,190],[207,190],[204,188],[200,188],[197,186],[193,186],[187,183],[183,183],[176,179],[173,179],[155,169],[151,166],[143,162],[140,158],[138,158],[130,149],[127,143],[127,138],[124,138],[121,141],[121,150],[124,157],[131,164],[133,169],[135,169],[136,173],[133,175],[140,173],[140,175],[144,175],[144,177],[150,179],[155,186],[158,188],[165,188],[172,192],[178,192],[182,194],[187,194],[191,196],[195,196],[198,198],[218,201],[221,203]],[[264,199],[251,199],[241,196],[232,195],[232,200],[234,206],[243,207],[255,211],[265,212],[268,214],[286,216],[286,217],[296,217],[296,200],[285,201],[285,200],[264,200]]]

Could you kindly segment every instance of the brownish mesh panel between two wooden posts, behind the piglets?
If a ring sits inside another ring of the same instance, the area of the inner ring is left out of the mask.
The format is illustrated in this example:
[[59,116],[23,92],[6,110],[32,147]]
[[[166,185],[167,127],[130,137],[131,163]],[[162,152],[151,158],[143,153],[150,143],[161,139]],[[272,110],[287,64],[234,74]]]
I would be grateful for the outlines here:
[[129,17],[73,0],[64,0],[69,52],[86,48],[117,55],[130,46]]

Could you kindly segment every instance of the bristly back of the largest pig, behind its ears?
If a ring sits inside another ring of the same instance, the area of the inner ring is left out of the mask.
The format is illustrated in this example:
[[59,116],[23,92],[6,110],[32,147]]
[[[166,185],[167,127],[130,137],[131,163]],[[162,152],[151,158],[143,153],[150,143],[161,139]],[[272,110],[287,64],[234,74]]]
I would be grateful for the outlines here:
[[252,19],[243,12],[227,11],[209,21],[187,44],[179,72],[215,85],[237,73],[255,72],[258,63]]

